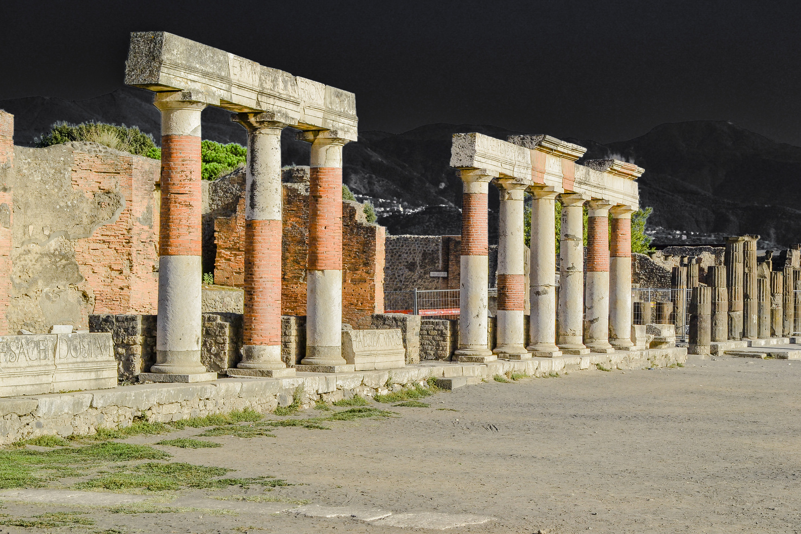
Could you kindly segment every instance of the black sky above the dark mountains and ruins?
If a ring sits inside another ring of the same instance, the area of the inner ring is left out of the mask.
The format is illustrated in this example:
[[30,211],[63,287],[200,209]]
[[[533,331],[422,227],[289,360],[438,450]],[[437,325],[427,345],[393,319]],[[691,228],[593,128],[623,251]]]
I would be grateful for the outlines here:
[[11,2],[0,99],[122,84],[165,30],[356,93],[361,130],[493,124],[605,143],[728,120],[801,145],[801,2]]

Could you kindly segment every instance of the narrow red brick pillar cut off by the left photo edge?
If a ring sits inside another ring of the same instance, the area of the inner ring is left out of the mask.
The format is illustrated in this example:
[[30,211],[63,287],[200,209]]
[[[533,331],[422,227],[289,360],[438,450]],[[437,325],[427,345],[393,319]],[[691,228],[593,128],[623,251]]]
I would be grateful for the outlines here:
[[[14,115],[0,110],[0,168],[10,175],[14,167]],[[8,305],[11,291],[11,222],[14,219],[14,203],[11,199],[10,183],[0,184],[0,335],[7,335]]]

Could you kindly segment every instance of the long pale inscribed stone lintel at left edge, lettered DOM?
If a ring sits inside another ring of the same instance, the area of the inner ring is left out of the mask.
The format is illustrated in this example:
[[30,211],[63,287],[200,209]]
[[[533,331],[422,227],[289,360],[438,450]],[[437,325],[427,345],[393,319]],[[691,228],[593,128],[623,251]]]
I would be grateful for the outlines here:
[[0,397],[116,385],[110,333],[0,336]]

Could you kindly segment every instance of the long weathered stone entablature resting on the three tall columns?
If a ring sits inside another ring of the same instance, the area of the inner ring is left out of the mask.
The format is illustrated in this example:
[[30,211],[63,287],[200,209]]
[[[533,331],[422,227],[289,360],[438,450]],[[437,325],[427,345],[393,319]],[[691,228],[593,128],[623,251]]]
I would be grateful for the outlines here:
[[356,95],[292,76],[164,31],[131,34],[126,85],[187,91],[191,100],[235,113],[274,114],[300,130],[336,130],[356,141]]

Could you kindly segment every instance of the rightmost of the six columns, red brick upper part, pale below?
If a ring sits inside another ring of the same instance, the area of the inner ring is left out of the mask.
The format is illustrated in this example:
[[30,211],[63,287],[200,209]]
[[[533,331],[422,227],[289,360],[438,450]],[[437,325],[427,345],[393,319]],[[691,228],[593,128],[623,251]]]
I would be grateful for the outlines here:
[[631,214],[630,206],[614,206],[609,273],[609,342],[630,351],[631,342]]

